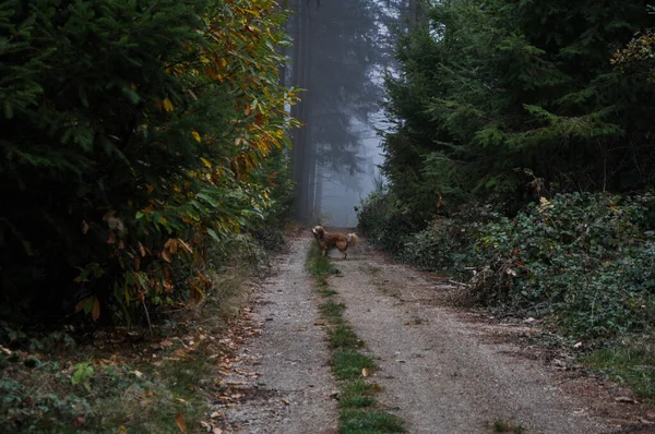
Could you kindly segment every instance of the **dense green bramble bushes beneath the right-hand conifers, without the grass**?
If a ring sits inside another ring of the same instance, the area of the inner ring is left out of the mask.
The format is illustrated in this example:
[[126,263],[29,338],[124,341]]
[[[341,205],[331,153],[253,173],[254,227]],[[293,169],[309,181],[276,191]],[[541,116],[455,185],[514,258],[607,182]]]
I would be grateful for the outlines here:
[[480,207],[437,219],[395,253],[460,277],[477,269],[472,300],[608,338],[652,328],[654,212],[651,194],[561,194],[514,218]]

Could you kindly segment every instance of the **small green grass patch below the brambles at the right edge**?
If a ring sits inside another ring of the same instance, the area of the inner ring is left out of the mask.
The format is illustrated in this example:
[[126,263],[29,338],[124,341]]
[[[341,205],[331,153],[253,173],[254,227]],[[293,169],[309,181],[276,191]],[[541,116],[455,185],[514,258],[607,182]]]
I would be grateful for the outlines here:
[[583,359],[592,371],[630,386],[634,394],[655,402],[655,343],[629,342],[590,353]]

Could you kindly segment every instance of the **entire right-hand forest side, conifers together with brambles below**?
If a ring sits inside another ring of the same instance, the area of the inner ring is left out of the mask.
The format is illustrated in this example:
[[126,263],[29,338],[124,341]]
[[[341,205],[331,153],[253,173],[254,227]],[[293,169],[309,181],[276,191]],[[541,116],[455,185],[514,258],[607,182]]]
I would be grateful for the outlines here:
[[[654,26],[646,1],[422,4],[385,77],[388,182],[360,229],[466,282],[463,304],[652,366]],[[653,396],[653,375],[624,376]]]

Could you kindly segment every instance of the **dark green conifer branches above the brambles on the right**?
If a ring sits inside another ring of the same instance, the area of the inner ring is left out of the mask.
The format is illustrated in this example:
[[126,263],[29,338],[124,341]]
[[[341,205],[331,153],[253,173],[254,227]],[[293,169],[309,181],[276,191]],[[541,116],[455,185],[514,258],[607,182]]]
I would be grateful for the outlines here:
[[610,62],[653,26],[645,5],[433,3],[385,81],[383,170],[401,205],[420,225],[471,195],[515,213],[540,195],[650,185],[655,87]]

